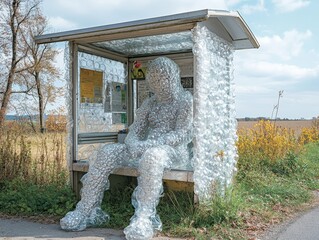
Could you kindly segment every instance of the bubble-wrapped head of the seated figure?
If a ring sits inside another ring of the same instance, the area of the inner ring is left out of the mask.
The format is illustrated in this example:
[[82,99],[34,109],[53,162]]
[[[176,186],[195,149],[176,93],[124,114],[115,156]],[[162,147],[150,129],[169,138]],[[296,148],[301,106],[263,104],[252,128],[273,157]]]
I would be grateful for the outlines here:
[[178,65],[167,57],[158,57],[148,64],[146,81],[159,97],[171,98],[182,89]]

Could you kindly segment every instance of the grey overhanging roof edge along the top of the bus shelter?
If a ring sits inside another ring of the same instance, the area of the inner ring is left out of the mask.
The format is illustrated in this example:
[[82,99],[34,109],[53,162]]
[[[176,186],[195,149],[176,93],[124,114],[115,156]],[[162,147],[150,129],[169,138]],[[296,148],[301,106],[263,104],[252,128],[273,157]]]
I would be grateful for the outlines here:
[[[225,34],[228,34],[236,49],[259,47],[257,39],[238,12],[209,9],[60,33],[45,34],[36,36],[35,41],[39,44],[61,41],[75,41],[77,43],[89,44],[107,40],[191,30],[196,23],[205,22],[207,20],[216,20],[216,22],[219,22],[219,26],[215,26],[215,32],[218,34],[223,31]],[[233,29],[232,26],[235,28]],[[218,27],[219,30],[216,29],[216,27]],[[238,35],[238,33],[243,33],[243,35],[237,38],[236,35]],[[238,44],[236,43],[237,41]],[[249,44],[243,45],[243,42]]]

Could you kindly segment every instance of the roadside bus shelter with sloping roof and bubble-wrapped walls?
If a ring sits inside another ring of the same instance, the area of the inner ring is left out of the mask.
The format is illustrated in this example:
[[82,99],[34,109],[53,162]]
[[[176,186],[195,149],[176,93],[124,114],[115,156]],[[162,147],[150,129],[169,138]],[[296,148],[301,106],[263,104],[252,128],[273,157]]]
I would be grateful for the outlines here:
[[[238,12],[206,9],[45,34],[35,41],[68,42],[68,162],[75,191],[88,156],[100,144],[123,142],[135,111],[152,94],[145,74],[148,61],[158,56],[179,65],[194,110],[192,161],[173,166],[164,181],[194,183],[203,201],[217,184],[230,184],[237,157],[233,53],[259,47]],[[126,165],[114,174],[138,173]]]

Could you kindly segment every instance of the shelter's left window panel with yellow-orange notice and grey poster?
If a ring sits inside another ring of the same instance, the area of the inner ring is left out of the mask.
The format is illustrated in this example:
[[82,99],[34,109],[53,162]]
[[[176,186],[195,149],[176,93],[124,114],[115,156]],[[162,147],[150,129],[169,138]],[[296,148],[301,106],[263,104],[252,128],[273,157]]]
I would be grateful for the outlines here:
[[79,53],[79,133],[127,128],[126,82],[125,64]]

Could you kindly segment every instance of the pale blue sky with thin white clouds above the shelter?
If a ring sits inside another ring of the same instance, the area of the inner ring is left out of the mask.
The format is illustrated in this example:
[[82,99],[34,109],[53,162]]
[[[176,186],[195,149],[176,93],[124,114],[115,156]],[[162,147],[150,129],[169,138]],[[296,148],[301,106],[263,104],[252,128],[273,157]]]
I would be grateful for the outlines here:
[[[201,9],[238,11],[260,48],[234,58],[237,117],[319,116],[318,0],[44,0],[51,32]],[[58,44],[57,47],[63,48]],[[63,65],[62,54],[58,64]]]

